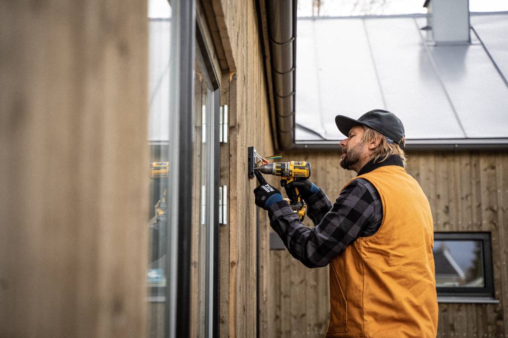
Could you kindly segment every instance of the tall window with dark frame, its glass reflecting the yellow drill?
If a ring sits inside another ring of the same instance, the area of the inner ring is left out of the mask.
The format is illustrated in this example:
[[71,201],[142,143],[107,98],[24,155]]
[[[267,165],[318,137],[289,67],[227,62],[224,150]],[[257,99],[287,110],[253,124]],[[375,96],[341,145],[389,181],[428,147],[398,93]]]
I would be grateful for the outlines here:
[[[147,335],[190,336],[196,3],[149,0]],[[140,87],[140,89],[142,89]],[[198,174],[199,175],[199,174]],[[207,190],[208,192],[212,190]],[[212,208],[207,204],[207,208]]]

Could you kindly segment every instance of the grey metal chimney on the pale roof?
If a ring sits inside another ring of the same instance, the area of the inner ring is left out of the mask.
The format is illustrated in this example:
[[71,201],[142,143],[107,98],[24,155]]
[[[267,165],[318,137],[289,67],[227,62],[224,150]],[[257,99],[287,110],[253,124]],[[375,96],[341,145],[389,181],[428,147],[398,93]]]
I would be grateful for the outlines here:
[[469,1],[426,0],[427,26],[436,45],[469,44]]

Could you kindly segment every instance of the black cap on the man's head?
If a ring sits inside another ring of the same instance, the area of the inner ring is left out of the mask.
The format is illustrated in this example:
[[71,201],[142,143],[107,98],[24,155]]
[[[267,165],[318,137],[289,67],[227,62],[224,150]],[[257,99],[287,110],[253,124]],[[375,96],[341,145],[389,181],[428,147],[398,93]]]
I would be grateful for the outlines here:
[[388,139],[388,142],[393,141],[398,144],[400,148],[404,149],[402,138],[404,137],[404,126],[394,113],[390,113],[383,109],[374,109],[370,112],[363,114],[358,120],[337,115],[335,116],[335,124],[340,132],[349,137],[351,128],[364,125],[379,131]]

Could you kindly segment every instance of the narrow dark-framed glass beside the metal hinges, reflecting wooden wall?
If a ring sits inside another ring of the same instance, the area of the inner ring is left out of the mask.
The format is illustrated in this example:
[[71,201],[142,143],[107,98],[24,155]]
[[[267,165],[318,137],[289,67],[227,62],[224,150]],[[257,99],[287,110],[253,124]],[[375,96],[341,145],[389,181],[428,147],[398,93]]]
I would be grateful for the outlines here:
[[194,65],[194,183],[190,313],[192,336],[218,335],[219,88],[197,30]]

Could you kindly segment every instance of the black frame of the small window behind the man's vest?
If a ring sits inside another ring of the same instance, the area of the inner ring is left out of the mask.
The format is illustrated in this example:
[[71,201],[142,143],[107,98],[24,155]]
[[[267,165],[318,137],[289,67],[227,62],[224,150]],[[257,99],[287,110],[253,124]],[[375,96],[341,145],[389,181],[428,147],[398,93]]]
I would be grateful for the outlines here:
[[434,232],[434,241],[481,241],[484,287],[436,287],[438,297],[494,296],[494,276],[490,232]]

